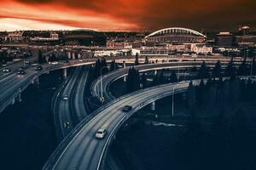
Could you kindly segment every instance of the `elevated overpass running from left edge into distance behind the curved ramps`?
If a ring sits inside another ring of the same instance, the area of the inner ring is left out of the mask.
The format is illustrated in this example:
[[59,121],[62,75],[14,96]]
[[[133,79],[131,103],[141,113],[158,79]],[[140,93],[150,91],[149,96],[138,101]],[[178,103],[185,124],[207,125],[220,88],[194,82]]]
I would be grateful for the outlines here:
[[[49,71],[55,71],[59,69],[64,69],[64,76],[67,76],[67,68],[74,67],[74,66],[80,66],[80,65],[92,65],[95,63],[97,58],[94,59],[84,59],[83,62],[79,62],[78,60],[71,60],[68,63],[59,63],[57,65],[42,65],[43,71],[35,71],[33,67],[30,67],[26,69],[26,75],[17,76],[15,71],[13,71],[11,74],[8,74],[8,77],[4,77],[3,79],[0,79],[0,113],[9,105],[14,104],[15,99],[20,98],[21,92],[26,89],[31,83],[38,83],[38,77],[43,75],[44,73],[47,73]],[[117,63],[123,63],[123,61],[127,62],[134,62],[134,57],[113,57],[108,58],[107,61],[110,62],[112,59],[115,59]],[[149,59],[167,59],[168,61],[177,60],[180,58],[174,57],[174,58],[162,58],[162,57],[152,57]],[[195,60],[192,58],[183,58],[183,60]],[[200,58],[205,59],[205,58]],[[206,60],[218,60],[219,58],[214,59],[206,59]],[[230,59],[224,58],[221,59],[224,61],[228,61]],[[239,60],[239,59],[238,59]]]

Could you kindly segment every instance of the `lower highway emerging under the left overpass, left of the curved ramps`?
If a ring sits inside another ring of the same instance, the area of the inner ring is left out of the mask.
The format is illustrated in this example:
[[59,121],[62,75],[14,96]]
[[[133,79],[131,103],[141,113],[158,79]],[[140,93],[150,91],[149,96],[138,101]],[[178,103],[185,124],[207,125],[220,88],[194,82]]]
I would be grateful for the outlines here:
[[[53,102],[53,113],[57,139],[61,141],[68,133],[81,122],[87,112],[84,102],[84,88],[88,71],[84,66],[75,68],[58,90]],[[67,95],[67,100],[63,96]]]

